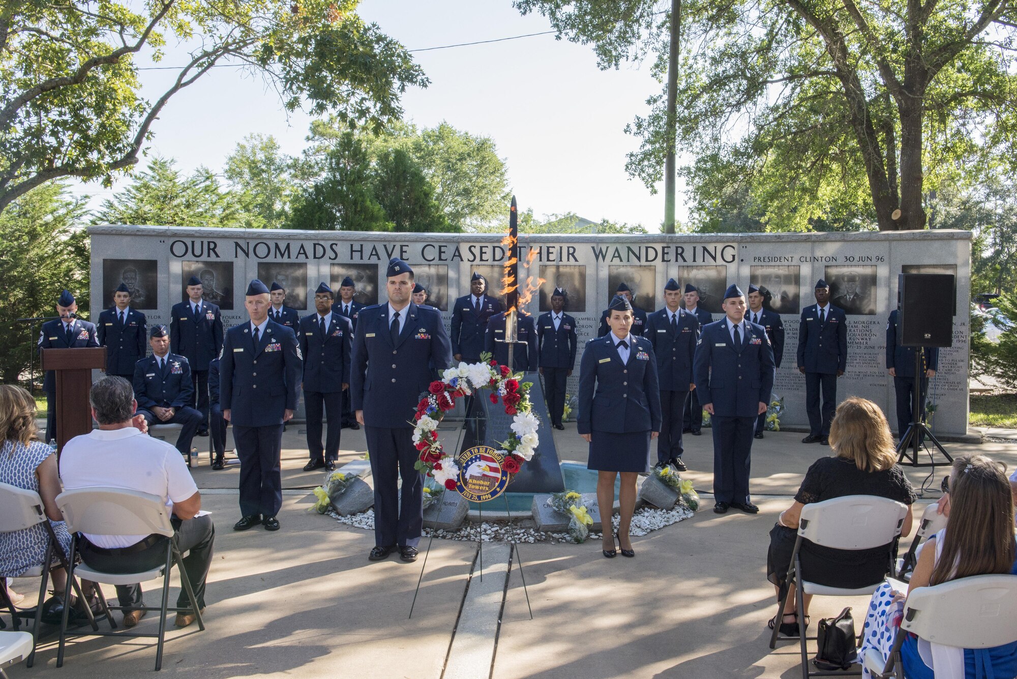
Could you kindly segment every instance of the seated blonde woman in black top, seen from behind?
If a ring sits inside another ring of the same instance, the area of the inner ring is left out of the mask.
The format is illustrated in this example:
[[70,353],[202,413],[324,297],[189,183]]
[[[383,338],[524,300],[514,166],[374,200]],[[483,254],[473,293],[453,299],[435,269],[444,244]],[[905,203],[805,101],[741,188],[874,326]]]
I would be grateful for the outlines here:
[[[774,618],[770,628],[780,625],[780,632],[788,636],[798,634],[798,620],[794,612],[794,587],[788,588],[786,578],[791,552],[797,538],[801,508],[811,502],[822,502],[845,495],[875,495],[908,505],[901,535],[911,532],[911,507],[915,495],[904,471],[897,465],[897,451],[886,416],[879,406],[865,398],[851,396],[837,407],[830,425],[832,457],[821,457],[813,462],[794,496],[794,502],[777,517],[777,524],[770,531],[770,550],[767,554],[767,579],[777,591],[780,601],[789,589],[783,619]],[[801,545],[801,568],[809,581],[829,587],[858,589],[878,583],[889,572],[893,550],[890,543],[875,549],[846,551],[814,545]],[[807,625],[809,604],[812,597],[804,596]]]

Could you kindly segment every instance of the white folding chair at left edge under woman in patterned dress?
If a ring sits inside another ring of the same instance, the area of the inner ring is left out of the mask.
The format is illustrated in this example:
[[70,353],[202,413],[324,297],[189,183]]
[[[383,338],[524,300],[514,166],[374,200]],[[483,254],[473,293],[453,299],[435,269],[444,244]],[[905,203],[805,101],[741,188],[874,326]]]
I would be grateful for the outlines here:
[[[27,667],[32,667],[36,660],[36,640],[39,638],[39,625],[42,622],[43,617],[43,603],[46,601],[46,585],[49,583],[50,569],[49,564],[52,563],[53,556],[56,555],[60,564],[67,569],[67,555],[64,554],[63,548],[57,541],[57,536],[53,532],[53,527],[50,524],[49,519],[46,516],[46,509],[43,506],[43,498],[39,497],[39,493],[34,490],[27,490],[24,488],[18,488],[17,486],[11,486],[10,484],[0,483],[0,533],[13,533],[14,531],[23,531],[25,529],[31,529],[40,523],[46,530],[47,534],[47,545],[46,545],[46,556],[43,558],[43,562],[34,565],[27,571],[19,573],[17,577],[37,577],[42,576],[42,581],[39,585],[39,601],[36,604],[36,610],[32,612],[32,616],[35,618],[35,624],[32,626],[32,653],[28,654]],[[0,577],[12,577],[11,573],[0,573]],[[68,582],[70,582],[68,578]],[[77,582],[73,583],[74,592],[79,597],[79,601],[84,601],[81,595],[81,588]],[[70,593],[68,590],[64,593],[64,601],[67,602],[69,599],[67,595]],[[10,611],[12,618],[12,624],[14,629],[17,630],[19,625],[20,617],[27,617],[26,612],[18,613],[10,598],[7,595],[7,589],[0,585],[0,594],[3,595],[3,606]],[[112,620],[109,611],[106,610],[106,602],[103,601],[103,608],[106,611],[107,616]],[[69,606],[65,606],[65,609],[69,610]],[[99,624],[96,622],[95,617],[92,615],[92,609],[85,606],[86,615],[88,617],[88,622],[92,624],[94,630],[99,629]]]

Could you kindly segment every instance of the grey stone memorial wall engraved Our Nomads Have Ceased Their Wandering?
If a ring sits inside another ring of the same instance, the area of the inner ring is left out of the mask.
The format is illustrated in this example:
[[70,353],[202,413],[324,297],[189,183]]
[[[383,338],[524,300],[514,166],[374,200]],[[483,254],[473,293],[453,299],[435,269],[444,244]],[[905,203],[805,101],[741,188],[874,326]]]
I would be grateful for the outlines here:
[[[416,280],[428,289],[428,304],[442,311],[445,327],[451,305],[469,291],[472,271],[487,276],[488,293],[500,286],[506,248],[501,236],[487,234],[388,234],[201,229],[178,227],[96,226],[92,236],[92,299],[112,306],[122,282],[133,291],[132,306],[152,322],[169,323],[170,308],[186,299],[184,283],[197,275],[205,299],[222,309],[229,326],[246,319],[243,291],[250,279],[277,281],[287,289],[286,304],[301,315],[313,311],[319,282],[339,291],[344,276],[357,285],[357,300],[383,301],[385,264],[394,256],[409,262]],[[894,412],[893,379],[885,368],[887,316],[897,305],[897,274],[953,273],[954,346],[943,350],[940,370],[930,387],[935,408],[931,425],[943,434],[967,432],[968,301],[970,233],[707,234],[707,235],[521,235],[521,280],[539,289],[526,309],[549,310],[554,288],[567,294],[565,310],[576,317],[579,356],[570,378],[576,393],[580,356],[596,335],[601,311],[624,282],[636,306],[663,306],[663,289],[674,277],[683,288],[701,291],[700,305],[721,317],[720,304],[732,283],[745,290],[754,283],[766,291],[766,304],[781,314],[785,346],[774,393],[785,399],[785,427],[807,426],[804,376],[795,351],[801,309],[815,303],[818,279],[831,287],[834,306],[847,312],[847,372],[838,397],[857,394]],[[98,310],[94,311],[94,315]],[[890,417],[891,422],[895,419]]]

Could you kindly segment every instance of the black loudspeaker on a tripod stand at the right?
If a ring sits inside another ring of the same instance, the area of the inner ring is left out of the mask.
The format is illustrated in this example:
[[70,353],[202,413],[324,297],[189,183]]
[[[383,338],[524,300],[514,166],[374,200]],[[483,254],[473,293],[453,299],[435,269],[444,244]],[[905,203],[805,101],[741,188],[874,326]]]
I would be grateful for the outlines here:
[[897,276],[901,347],[952,347],[954,276],[900,273]]

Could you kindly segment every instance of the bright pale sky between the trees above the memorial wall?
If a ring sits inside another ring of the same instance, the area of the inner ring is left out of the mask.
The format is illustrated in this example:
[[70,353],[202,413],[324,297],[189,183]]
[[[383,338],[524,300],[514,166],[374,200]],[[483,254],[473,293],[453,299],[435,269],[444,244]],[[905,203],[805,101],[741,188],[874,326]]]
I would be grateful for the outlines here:
[[[522,16],[511,0],[362,0],[359,11],[410,50],[550,29],[542,16]],[[553,35],[413,56],[431,84],[405,95],[406,119],[426,127],[445,120],[492,137],[521,210],[573,211],[659,229],[662,187],[651,195],[624,170],[625,153],[639,146],[624,126],[648,112],[646,99],[662,86],[649,63],[601,71],[592,48]],[[161,65],[186,63],[185,57],[171,46]],[[145,95],[157,98],[175,75],[142,72]],[[176,159],[187,173],[199,165],[219,172],[252,132],[272,134],[284,151],[298,155],[309,121],[300,113],[288,118],[260,79],[216,68],[170,100],[154,126],[149,152]],[[679,183],[677,218],[684,221],[681,188]],[[98,184],[75,191],[94,195],[94,205],[111,195]]]

